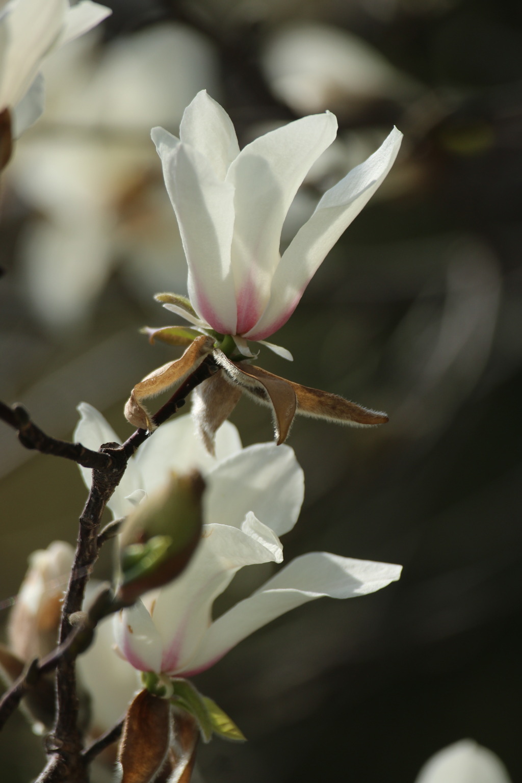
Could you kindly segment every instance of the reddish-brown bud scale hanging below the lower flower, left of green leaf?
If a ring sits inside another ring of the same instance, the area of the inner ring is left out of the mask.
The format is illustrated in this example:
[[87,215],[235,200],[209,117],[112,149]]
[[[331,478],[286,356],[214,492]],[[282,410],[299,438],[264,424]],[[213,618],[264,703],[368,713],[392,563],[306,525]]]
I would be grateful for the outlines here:
[[170,704],[140,691],[128,708],[121,739],[121,783],[149,783],[163,767],[171,738]]

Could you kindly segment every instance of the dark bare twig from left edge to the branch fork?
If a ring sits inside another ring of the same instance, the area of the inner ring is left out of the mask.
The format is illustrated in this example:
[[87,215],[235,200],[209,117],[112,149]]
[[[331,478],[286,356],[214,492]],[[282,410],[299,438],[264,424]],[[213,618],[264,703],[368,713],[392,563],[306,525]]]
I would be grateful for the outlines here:
[[18,431],[18,439],[26,449],[36,449],[42,454],[52,454],[52,456],[63,456],[66,460],[73,460],[83,467],[103,469],[109,468],[112,464],[109,454],[91,451],[81,443],[70,443],[45,435],[45,432],[33,424],[29,413],[20,403],[9,407],[5,402],[0,402],[0,419]]

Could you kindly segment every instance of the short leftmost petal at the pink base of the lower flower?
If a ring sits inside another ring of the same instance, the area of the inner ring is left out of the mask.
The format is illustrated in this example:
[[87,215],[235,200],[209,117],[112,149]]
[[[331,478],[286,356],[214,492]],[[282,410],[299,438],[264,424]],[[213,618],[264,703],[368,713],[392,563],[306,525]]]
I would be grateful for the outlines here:
[[113,630],[116,644],[131,666],[160,674],[163,642],[140,598],[114,615]]

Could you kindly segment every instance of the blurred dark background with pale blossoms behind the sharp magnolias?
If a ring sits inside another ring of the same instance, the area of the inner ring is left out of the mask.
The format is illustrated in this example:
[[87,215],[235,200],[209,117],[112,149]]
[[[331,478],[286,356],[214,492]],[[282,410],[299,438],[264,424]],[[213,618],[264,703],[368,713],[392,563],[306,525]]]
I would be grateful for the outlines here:
[[[2,175],[0,396],[70,437],[81,400],[122,438],[132,385],[175,357],[139,327],[185,290],[185,261],[149,128],[177,132],[207,88],[241,145],[329,109],[338,140],[290,209],[405,133],[391,175],[275,337],[268,370],[387,410],[376,431],[297,420],[306,476],[286,560],[308,550],[404,565],[358,601],[322,600],[197,678],[246,745],[200,749],[203,783],[412,783],[475,738],[522,781],[522,10],[508,0],[113,0],[103,26],[45,66],[47,108]],[[266,354],[266,355],[265,355]],[[244,444],[272,437],[239,403]],[[32,550],[74,543],[74,464],[0,424],[0,600]],[[216,612],[269,576],[239,572]],[[110,574],[106,556],[98,575]],[[5,626],[7,609],[0,613]],[[2,780],[41,768],[21,715]]]

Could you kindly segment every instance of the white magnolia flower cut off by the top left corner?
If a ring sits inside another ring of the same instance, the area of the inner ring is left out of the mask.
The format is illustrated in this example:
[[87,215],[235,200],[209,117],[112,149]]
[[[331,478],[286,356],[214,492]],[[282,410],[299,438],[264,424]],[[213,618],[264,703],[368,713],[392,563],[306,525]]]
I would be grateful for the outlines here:
[[13,137],[43,110],[41,61],[110,15],[105,5],[81,0],[9,0],[0,13],[0,111],[14,110]]

